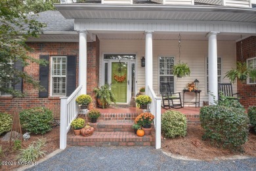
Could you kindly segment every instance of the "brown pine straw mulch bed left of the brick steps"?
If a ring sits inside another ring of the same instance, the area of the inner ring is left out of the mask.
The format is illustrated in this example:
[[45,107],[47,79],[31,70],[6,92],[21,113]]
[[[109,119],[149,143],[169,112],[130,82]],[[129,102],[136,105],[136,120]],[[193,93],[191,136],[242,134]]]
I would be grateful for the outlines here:
[[[1,136],[0,138],[2,138]],[[47,132],[46,134],[31,134],[30,139],[27,141],[23,141],[22,143],[22,149],[28,147],[30,143],[37,142],[38,138],[46,138],[46,147],[43,149],[45,151],[46,155],[49,155],[56,149],[59,149],[60,144],[60,126],[53,127],[53,130],[50,132]],[[0,161],[12,161],[16,162],[16,155],[17,152],[12,151],[12,145],[9,145],[8,142],[3,142],[0,140],[0,144],[2,145],[2,150],[4,151],[3,157],[0,158]],[[16,162],[17,163],[17,162]],[[12,166],[0,166],[0,170],[13,170],[15,168],[18,168],[20,166],[12,165]]]

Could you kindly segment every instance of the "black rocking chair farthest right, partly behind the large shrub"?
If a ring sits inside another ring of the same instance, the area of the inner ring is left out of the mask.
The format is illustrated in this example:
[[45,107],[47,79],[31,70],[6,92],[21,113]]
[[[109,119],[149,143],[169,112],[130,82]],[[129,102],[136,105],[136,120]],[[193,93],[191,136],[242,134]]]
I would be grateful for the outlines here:
[[225,96],[227,99],[239,100],[239,93],[233,94],[232,84],[231,83],[219,83],[218,84],[218,95],[219,100],[221,98],[221,94]]

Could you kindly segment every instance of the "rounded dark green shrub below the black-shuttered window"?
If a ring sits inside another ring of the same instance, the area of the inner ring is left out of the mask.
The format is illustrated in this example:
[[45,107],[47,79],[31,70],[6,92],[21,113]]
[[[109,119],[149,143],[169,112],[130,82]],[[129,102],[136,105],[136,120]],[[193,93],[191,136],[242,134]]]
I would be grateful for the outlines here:
[[20,112],[22,128],[34,134],[49,132],[53,123],[53,112],[45,107],[33,107]]

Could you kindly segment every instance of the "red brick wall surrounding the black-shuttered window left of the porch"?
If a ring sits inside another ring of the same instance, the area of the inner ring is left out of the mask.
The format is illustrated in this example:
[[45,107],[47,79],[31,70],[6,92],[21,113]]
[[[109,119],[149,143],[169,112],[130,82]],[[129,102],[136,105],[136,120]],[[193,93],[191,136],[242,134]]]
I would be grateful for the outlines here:
[[[27,44],[34,49],[33,52],[30,52],[30,56],[36,59],[39,59],[40,54],[49,54],[50,56],[77,56],[76,86],[78,85],[79,43]],[[87,94],[91,96],[93,95],[93,88],[98,85],[99,46],[98,38],[96,38],[96,41],[93,43],[87,43]],[[30,64],[30,66],[24,68],[24,71],[30,73],[35,78],[35,80],[39,80],[38,64]],[[39,91],[26,83],[23,85],[23,92],[27,94],[26,98],[0,97],[0,112],[7,112],[11,114],[14,113],[14,111],[18,110],[20,112],[22,109],[28,109],[31,107],[47,107],[53,111],[54,117],[60,117],[60,98],[50,96],[48,98],[38,98]]]

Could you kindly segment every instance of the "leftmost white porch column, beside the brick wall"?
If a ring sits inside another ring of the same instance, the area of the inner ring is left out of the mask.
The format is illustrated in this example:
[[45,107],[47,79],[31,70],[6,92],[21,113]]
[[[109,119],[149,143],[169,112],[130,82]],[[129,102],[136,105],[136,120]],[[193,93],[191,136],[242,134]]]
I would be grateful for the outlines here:
[[81,94],[87,93],[87,31],[79,31],[79,75],[78,84],[83,85]]

